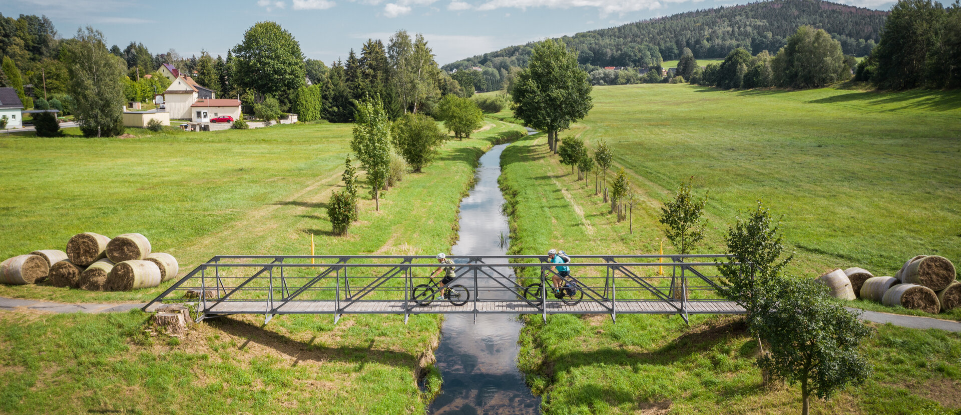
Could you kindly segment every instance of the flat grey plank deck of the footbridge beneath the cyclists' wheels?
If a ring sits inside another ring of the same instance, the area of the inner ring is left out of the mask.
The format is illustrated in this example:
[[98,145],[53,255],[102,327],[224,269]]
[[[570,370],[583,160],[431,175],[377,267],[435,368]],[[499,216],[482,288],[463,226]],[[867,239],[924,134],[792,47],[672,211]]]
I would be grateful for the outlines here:
[[[473,313],[475,303],[452,305],[449,302],[433,302],[430,305],[414,305],[404,300],[362,301],[350,304],[340,302],[340,310],[335,310],[333,300],[326,301],[291,301],[286,304],[275,301],[268,305],[266,301],[225,301],[215,304],[208,301],[203,307],[207,314],[451,314]],[[524,301],[482,301],[476,303],[478,313],[513,313],[539,314],[544,312],[541,307],[534,307]],[[664,302],[658,300],[618,300],[614,303],[614,310],[618,314],[678,314],[686,311],[688,314],[743,314],[744,307],[729,301],[689,301],[683,306],[680,302]],[[582,301],[578,305],[565,305],[559,301],[547,302],[549,314],[608,314],[611,312],[611,302]]]

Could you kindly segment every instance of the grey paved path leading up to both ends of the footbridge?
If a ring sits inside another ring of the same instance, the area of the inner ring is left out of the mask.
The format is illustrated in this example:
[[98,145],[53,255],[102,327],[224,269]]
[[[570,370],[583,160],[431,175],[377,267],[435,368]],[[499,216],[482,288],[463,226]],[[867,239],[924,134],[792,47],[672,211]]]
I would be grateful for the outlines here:
[[[48,311],[58,313],[86,312],[91,314],[104,312],[124,312],[134,308],[141,308],[146,303],[136,304],[63,304],[45,302],[39,300],[22,300],[0,297],[0,310],[12,311],[16,309],[28,309],[35,311]],[[940,329],[946,331],[961,332],[961,322],[939,320],[930,317],[906,316],[900,314],[888,314],[877,311],[865,311],[859,308],[846,307],[851,311],[861,311],[861,319],[875,323],[891,323],[895,326],[910,329]]]

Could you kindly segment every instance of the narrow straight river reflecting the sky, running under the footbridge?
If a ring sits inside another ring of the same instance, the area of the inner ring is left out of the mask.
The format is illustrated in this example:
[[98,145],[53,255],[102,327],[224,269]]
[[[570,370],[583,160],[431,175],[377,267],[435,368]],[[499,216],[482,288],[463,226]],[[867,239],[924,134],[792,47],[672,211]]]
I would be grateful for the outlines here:
[[[501,175],[501,153],[506,146],[494,146],[480,158],[478,183],[460,202],[460,238],[451,255],[505,255],[509,230],[507,218],[501,213],[505,201],[497,179]],[[505,275],[511,272],[508,267],[499,271]],[[473,281],[456,283],[467,286],[473,297]],[[495,286],[500,285],[481,275],[478,278],[480,298],[512,296],[503,289],[485,289]],[[540,399],[530,393],[516,364],[520,350],[517,338],[522,326],[517,316],[509,314],[480,314],[477,324],[473,314],[448,314],[435,352],[444,383],[440,395],[431,403],[430,412],[539,413]]]

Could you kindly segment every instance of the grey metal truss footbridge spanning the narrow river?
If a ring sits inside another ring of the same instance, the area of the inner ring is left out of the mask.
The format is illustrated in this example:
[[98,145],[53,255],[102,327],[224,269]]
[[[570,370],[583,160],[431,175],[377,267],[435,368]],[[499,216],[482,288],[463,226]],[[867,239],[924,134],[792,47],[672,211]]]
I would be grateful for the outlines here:
[[[424,304],[414,287],[440,264],[434,256],[214,256],[171,285],[156,303],[196,304],[197,320],[216,315],[396,313],[734,313],[721,295],[725,255],[571,256],[580,296],[555,298],[555,266],[545,256],[448,256],[469,298]],[[442,272],[435,280],[439,281]],[[558,276],[559,277],[559,276]],[[539,284],[539,285],[538,285]],[[423,292],[422,292],[423,294]],[[724,305],[724,306],[722,306]]]

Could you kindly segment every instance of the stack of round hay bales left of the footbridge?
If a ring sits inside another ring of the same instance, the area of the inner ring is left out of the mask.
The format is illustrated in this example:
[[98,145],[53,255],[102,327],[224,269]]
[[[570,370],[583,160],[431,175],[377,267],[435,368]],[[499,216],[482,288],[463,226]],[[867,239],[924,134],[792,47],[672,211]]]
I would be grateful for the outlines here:
[[110,238],[99,233],[73,235],[66,251],[40,250],[0,263],[0,283],[32,284],[90,291],[129,291],[156,287],[180,272],[177,258],[151,252],[146,236],[124,233]]

